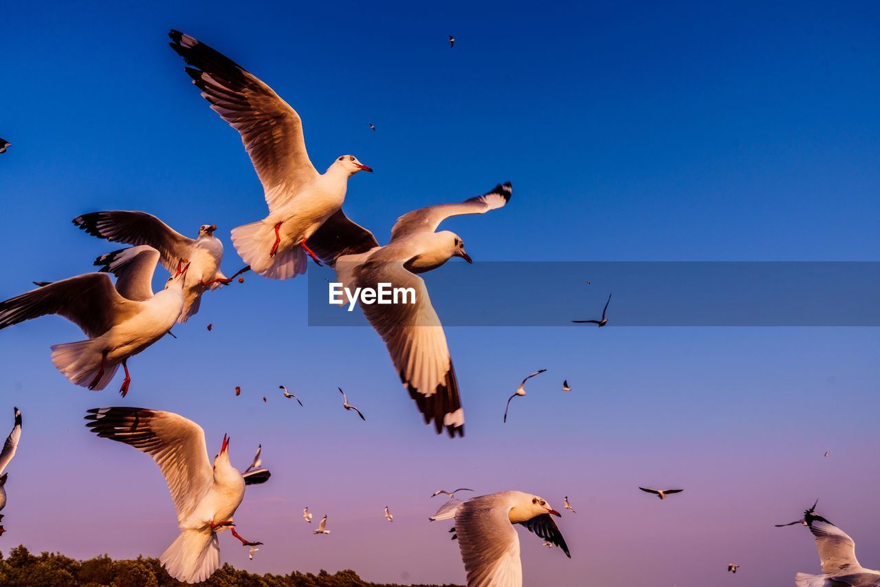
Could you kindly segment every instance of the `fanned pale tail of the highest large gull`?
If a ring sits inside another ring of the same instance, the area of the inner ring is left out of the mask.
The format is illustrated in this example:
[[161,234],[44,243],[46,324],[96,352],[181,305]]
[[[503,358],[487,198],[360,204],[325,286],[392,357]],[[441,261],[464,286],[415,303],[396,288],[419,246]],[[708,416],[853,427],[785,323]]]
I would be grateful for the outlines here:
[[305,272],[308,257],[299,245],[279,248],[275,256],[269,256],[275,244],[275,226],[266,220],[233,228],[232,244],[238,256],[263,277],[290,279]]

